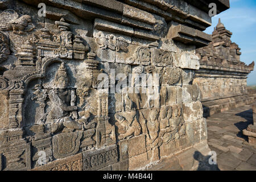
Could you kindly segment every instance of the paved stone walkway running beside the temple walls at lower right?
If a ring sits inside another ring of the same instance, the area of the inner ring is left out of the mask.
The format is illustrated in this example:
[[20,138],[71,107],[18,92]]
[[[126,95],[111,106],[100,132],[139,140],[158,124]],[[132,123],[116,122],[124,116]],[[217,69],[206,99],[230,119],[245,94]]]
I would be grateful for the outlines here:
[[242,130],[253,123],[251,106],[214,114],[207,118],[208,144],[217,153],[222,171],[256,171],[256,148],[250,146]]

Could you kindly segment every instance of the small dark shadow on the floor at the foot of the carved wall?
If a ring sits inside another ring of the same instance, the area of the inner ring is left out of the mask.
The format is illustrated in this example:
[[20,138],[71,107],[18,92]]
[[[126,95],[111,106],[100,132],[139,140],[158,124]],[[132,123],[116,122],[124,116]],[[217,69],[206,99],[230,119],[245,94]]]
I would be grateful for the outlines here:
[[218,164],[209,164],[210,155],[204,156],[201,152],[195,151],[193,157],[199,162],[197,171],[220,171]]

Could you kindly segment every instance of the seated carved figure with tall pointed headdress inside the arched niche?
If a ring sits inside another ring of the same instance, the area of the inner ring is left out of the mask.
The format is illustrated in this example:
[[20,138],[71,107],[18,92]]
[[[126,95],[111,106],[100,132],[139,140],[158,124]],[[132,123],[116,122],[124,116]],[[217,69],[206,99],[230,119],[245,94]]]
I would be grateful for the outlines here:
[[64,63],[62,63],[55,75],[55,89],[49,92],[51,110],[48,113],[46,123],[53,124],[53,133],[63,128],[63,126],[66,127],[65,131],[83,128],[76,120],[78,116],[75,90],[67,87],[68,73]]

